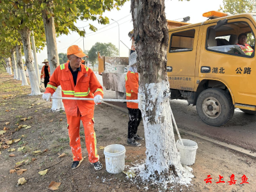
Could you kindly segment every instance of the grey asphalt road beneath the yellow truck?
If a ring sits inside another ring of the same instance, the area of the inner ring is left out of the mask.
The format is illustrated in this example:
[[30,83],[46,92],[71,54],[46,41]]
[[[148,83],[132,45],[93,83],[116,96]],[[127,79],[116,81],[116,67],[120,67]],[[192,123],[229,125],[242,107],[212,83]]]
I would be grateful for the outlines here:
[[[102,83],[101,76],[97,77]],[[115,99],[115,92],[104,89],[104,98]],[[125,103],[111,104],[126,108]],[[235,109],[232,120],[221,127],[213,127],[202,122],[196,107],[188,106],[186,100],[171,100],[170,105],[178,127],[256,152],[256,115],[247,115]]]

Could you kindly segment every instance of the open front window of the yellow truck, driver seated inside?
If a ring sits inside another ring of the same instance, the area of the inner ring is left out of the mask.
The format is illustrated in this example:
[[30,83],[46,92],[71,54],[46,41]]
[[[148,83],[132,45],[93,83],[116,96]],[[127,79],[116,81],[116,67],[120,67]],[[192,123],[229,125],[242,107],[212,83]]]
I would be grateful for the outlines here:
[[[249,45],[246,47],[247,49],[238,44],[238,36],[241,33],[247,35],[246,44]],[[246,22],[228,23],[217,30],[214,30],[214,26],[211,26],[207,29],[205,47],[208,51],[222,52],[234,56],[253,57],[255,36]]]

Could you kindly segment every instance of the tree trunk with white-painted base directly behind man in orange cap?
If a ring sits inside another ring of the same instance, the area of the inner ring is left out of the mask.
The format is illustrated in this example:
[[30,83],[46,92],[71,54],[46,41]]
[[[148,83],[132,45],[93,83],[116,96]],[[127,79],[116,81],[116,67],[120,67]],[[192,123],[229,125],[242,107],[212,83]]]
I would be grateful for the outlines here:
[[[56,44],[56,33],[54,26],[54,18],[47,17],[46,11],[42,11],[42,17],[44,20],[44,30],[46,37],[46,45],[47,45],[47,56],[50,65],[51,74],[54,70],[60,65],[59,56]],[[61,87],[58,86],[56,92],[52,95],[54,97],[61,97]],[[61,99],[52,99],[52,110],[58,111],[60,109],[64,109],[63,102]]]

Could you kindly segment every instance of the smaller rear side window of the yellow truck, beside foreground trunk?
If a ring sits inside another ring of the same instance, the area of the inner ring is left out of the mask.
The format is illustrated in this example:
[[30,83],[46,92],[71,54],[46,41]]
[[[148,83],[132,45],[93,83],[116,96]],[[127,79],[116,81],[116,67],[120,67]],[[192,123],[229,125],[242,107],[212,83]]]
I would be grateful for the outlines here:
[[173,33],[169,52],[192,51],[194,38],[195,29]]

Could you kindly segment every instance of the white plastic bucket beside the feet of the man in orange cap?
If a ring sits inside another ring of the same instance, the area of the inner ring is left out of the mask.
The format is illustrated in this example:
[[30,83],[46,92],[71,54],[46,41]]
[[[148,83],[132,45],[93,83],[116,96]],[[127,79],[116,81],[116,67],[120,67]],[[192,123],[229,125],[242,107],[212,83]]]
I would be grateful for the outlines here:
[[119,144],[108,145],[104,148],[106,170],[109,173],[120,173],[125,166],[125,147]]

